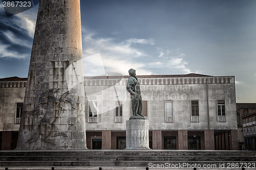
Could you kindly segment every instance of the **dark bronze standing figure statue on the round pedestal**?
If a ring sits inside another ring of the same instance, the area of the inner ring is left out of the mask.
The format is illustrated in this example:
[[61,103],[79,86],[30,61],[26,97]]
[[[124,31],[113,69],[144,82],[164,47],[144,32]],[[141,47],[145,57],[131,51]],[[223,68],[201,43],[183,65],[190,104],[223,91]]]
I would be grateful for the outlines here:
[[131,94],[133,116],[130,119],[145,119],[142,112],[142,98],[140,95],[140,82],[136,77],[136,70],[129,70],[129,79],[126,85],[127,91]]

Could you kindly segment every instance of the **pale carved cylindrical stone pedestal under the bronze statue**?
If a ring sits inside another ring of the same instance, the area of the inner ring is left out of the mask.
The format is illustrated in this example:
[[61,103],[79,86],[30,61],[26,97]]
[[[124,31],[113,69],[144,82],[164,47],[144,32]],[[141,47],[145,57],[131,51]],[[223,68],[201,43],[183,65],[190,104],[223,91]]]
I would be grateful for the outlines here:
[[126,121],[126,148],[127,150],[150,149],[148,135],[148,120]]

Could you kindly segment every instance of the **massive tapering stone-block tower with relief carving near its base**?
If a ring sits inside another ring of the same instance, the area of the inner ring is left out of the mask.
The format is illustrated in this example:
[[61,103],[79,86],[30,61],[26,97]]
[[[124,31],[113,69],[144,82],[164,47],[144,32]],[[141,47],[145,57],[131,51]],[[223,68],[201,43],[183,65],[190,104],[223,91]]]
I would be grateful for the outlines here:
[[40,1],[17,149],[87,149],[79,0]]

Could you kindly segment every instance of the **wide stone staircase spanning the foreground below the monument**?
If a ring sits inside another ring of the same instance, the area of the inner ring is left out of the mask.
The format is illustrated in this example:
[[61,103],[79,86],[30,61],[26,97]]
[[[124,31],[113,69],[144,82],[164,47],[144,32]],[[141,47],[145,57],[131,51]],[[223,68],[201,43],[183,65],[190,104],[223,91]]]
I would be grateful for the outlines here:
[[[192,170],[195,165],[197,165],[197,169],[242,169],[244,165],[248,167],[249,163],[251,168],[248,169],[256,169],[256,152],[205,150],[0,151],[0,169],[6,169],[6,167],[8,169],[77,170],[100,169],[100,167],[102,169],[146,169],[146,167],[161,169],[163,167],[162,169]],[[203,168],[204,165],[205,168]],[[232,165],[234,165],[233,168]],[[236,167],[236,165],[238,166]]]

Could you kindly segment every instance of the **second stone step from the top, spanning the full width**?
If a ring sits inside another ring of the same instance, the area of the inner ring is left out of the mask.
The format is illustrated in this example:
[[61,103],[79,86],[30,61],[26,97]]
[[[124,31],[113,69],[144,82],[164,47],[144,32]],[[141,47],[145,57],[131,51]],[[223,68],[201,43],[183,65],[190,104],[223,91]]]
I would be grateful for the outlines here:
[[0,156],[1,161],[255,161],[252,156]]

